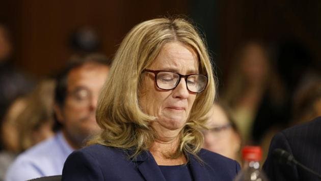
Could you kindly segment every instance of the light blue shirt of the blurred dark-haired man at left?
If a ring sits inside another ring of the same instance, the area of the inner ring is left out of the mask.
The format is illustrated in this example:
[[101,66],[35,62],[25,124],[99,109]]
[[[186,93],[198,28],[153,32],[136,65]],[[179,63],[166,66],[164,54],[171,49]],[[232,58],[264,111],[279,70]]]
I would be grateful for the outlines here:
[[20,154],[9,167],[6,181],[21,181],[41,176],[61,175],[73,149],[62,132]]

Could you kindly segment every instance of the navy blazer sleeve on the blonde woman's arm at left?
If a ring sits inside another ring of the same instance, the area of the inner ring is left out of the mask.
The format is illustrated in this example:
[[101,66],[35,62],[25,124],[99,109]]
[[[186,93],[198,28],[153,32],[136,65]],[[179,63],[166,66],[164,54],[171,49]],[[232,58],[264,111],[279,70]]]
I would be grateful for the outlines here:
[[104,180],[101,168],[90,154],[75,151],[67,158],[62,180]]

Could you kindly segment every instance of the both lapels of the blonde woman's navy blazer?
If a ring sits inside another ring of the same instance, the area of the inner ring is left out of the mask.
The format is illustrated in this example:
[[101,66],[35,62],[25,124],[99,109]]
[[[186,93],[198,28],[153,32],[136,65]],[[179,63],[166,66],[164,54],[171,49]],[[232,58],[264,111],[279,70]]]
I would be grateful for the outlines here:
[[[192,154],[188,154],[189,156],[189,165],[191,175],[193,176],[193,180],[195,181],[207,181],[212,180],[210,178],[208,171],[205,167],[206,163],[200,163]],[[137,162],[138,170],[144,176],[147,181],[155,180],[155,181],[166,181],[165,177],[158,167],[154,157],[151,155],[149,151],[144,151],[140,155],[136,157],[133,162]],[[214,173],[211,173],[214,174]]]

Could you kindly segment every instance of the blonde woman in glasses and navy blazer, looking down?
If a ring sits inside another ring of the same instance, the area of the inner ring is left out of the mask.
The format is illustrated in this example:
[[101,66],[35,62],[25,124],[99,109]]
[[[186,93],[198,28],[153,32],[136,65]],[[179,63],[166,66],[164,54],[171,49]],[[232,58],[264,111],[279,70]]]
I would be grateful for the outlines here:
[[238,163],[201,149],[215,88],[206,46],[188,21],[133,27],[98,99],[103,131],[68,157],[62,180],[232,180]]

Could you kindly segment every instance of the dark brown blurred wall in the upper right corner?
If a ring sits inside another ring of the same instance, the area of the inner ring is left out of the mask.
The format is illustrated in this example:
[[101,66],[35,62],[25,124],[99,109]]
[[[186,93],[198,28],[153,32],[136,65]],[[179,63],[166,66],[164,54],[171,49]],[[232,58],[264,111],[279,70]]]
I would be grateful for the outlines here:
[[274,45],[287,39],[295,40],[310,51],[313,64],[321,68],[320,1],[221,0],[218,5],[219,53],[220,61],[225,64],[225,74],[237,45],[248,38]]

